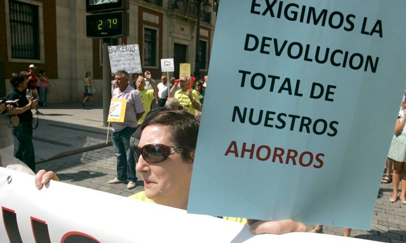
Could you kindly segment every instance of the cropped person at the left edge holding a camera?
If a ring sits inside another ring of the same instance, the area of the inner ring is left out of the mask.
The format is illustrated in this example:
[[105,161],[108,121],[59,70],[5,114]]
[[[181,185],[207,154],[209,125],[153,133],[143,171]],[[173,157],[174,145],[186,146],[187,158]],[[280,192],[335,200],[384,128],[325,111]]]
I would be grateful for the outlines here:
[[0,114],[0,153],[14,155],[14,139],[8,124],[18,126],[20,119],[15,115],[13,105],[6,105],[4,98],[0,98]]

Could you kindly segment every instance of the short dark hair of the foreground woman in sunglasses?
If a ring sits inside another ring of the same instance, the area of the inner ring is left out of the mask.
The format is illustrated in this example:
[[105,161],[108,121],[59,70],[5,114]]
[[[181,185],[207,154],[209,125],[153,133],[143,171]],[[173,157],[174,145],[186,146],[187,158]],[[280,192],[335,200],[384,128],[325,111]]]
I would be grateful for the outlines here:
[[196,150],[197,133],[199,131],[199,120],[185,111],[162,111],[145,120],[141,130],[147,126],[170,126],[170,138],[175,146],[182,146],[183,159],[193,163],[192,152]]

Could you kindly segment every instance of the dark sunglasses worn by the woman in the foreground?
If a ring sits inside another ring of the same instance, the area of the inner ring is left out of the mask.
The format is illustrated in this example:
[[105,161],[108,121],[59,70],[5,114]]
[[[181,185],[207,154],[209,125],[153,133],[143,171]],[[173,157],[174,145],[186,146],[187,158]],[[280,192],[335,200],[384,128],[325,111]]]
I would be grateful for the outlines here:
[[140,158],[140,155],[143,156],[144,160],[150,163],[158,163],[167,159],[170,155],[175,153],[182,154],[182,146],[166,146],[163,144],[147,144],[142,148],[138,146],[133,146],[134,157],[137,160]]

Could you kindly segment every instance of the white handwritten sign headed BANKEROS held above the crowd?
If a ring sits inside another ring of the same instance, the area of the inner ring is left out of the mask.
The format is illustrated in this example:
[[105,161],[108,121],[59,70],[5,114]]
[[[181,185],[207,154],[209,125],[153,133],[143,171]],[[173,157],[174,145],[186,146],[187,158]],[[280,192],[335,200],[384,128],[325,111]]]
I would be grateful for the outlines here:
[[138,45],[109,46],[111,73],[119,70],[127,73],[142,73],[140,49]]

